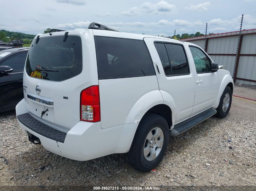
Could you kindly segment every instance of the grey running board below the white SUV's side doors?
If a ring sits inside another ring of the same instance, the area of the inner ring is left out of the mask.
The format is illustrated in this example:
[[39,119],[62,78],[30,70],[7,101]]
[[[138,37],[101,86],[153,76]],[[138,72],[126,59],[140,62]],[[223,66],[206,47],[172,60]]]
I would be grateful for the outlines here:
[[175,125],[174,128],[171,130],[171,136],[178,136],[181,133],[188,131],[192,127],[202,123],[204,120],[210,118],[211,116],[215,115],[217,111],[215,109],[209,109],[204,111],[203,113],[198,114],[197,116],[192,117],[178,125]]

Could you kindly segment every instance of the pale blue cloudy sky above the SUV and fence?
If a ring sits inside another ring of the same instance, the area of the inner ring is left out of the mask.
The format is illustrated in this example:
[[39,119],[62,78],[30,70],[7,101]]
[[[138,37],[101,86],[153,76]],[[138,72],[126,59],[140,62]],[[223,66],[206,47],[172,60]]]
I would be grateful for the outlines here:
[[256,0],[9,0],[1,1],[0,30],[43,33],[73,30],[91,22],[120,32],[173,36],[256,28]]

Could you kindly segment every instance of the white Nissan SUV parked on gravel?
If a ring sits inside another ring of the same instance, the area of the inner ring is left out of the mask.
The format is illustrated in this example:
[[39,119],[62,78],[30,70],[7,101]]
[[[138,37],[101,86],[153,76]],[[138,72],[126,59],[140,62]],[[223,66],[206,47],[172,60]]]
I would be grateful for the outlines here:
[[37,35],[23,89],[16,114],[31,142],[78,161],[127,153],[149,171],[170,135],[227,116],[233,80],[197,45],[92,23]]

